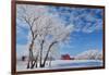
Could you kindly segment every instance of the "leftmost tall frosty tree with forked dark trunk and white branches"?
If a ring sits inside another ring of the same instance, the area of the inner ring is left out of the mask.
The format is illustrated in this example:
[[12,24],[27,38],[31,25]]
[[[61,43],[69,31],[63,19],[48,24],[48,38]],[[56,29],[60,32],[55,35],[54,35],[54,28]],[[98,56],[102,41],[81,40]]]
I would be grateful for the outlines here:
[[[38,11],[38,12],[37,12]],[[17,4],[16,5],[16,24],[21,27],[26,27],[29,29],[31,40],[28,45],[29,57],[28,57],[28,64],[27,68],[32,67],[34,55],[33,55],[33,47],[35,43],[35,39],[37,38],[37,26],[36,23],[40,16],[43,16],[47,12],[47,9],[44,7],[35,7],[29,4]]]

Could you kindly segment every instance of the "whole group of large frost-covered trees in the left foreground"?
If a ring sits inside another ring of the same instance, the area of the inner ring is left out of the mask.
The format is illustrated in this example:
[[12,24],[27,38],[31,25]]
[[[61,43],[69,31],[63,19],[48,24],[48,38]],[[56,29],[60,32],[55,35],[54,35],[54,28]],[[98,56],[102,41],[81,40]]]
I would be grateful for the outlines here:
[[48,10],[43,5],[16,5],[16,24],[29,30],[27,68],[45,67],[58,45],[68,40],[73,30],[72,25],[64,25]]

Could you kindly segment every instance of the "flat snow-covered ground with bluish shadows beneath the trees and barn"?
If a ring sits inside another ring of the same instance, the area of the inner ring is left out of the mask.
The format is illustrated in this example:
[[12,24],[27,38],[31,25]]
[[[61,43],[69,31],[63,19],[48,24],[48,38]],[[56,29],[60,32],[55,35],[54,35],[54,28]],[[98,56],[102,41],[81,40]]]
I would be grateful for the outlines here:
[[[27,71],[26,65],[27,65],[27,62],[19,61],[16,63],[16,71]],[[99,61],[99,60],[56,60],[56,61],[51,61],[51,66],[46,64],[45,67],[37,67],[37,68],[32,68],[32,70],[38,71],[38,70],[56,70],[56,68],[92,67],[92,66],[102,66],[102,61]]]

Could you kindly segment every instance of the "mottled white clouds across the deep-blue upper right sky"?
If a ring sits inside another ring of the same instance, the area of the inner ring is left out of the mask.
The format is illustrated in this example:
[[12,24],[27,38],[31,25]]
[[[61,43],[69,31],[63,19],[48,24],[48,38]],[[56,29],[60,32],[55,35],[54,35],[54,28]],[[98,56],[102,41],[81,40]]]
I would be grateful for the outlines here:
[[73,24],[75,32],[93,33],[102,29],[102,15],[100,15],[102,14],[101,9],[60,7],[53,12],[58,13],[64,23]]

